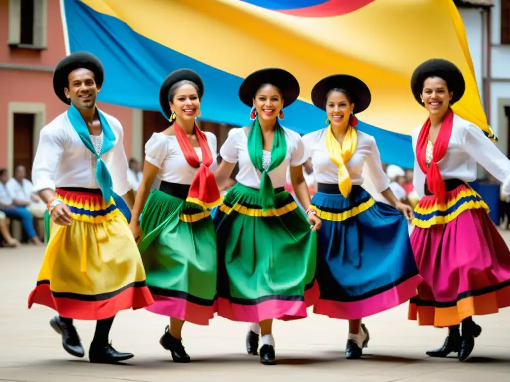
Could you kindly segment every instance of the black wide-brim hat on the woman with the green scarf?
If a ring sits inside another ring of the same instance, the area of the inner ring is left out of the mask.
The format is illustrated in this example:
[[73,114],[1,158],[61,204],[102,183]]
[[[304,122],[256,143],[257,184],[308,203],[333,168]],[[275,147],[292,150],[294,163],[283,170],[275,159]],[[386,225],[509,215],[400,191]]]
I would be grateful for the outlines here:
[[239,87],[239,99],[246,106],[253,106],[255,94],[264,84],[271,84],[282,92],[284,107],[292,105],[299,97],[299,82],[287,70],[279,68],[266,68],[257,70],[248,75]]

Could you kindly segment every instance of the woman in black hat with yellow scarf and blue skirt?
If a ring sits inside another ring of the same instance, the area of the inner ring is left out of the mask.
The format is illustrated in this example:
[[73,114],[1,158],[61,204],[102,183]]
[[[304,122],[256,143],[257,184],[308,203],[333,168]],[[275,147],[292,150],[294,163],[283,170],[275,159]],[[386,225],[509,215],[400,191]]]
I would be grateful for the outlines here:
[[[406,220],[413,210],[393,194],[374,138],[355,128],[354,114],[370,104],[365,83],[346,74],[328,76],[314,86],[312,101],[326,112],[328,123],[303,137],[318,182],[312,204],[323,222],[317,251],[320,298],[314,312],[349,320],[345,353],[356,359],[369,340],[361,319],[416,295],[421,278]],[[392,206],[374,202],[361,187],[364,165],[377,192]]]

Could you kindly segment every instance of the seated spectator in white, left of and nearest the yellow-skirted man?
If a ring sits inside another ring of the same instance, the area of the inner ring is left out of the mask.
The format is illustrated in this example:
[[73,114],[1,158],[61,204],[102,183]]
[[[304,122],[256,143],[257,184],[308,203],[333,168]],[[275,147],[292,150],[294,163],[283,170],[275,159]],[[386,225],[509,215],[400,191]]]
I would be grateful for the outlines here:
[[16,167],[14,178],[7,182],[7,190],[18,207],[27,207],[37,219],[44,219],[46,204],[32,192],[34,185],[27,179],[27,169],[24,166]]

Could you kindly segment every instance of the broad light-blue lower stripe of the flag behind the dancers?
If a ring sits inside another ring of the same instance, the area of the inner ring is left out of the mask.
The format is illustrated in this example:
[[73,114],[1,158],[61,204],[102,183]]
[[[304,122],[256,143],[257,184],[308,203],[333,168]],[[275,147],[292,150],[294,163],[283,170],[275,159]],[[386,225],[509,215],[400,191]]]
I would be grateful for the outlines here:
[[[89,51],[105,68],[99,101],[160,111],[159,91],[165,77],[175,69],[190,68],[200,74],[205,85],[200,106],[203,120],[237,126],[249,124],[249,108],[237,96],[242,78],[143,37],[124,22],[95,12],[78,0],[66,0],[64,6],[70,51]],[[282,124],[304,134],[325,127],[325,117],[315,106],[297,101],[285,108]],[[373,135],[383,161],[413,168],[409,135],[379,129],[362,121],[358,128]]]

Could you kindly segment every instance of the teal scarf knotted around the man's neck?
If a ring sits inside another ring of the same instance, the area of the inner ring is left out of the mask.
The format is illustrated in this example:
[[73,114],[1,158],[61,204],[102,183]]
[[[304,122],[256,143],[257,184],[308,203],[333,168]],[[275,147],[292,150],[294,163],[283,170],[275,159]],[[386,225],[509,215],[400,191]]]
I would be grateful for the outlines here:
[[101,155],[113,147],[115,144],[115,135],[113,134],[108,121],[103,115],[103,112],[97,110],[97,115],[99,116],[99,122],[101,123],[101,128],[103,129],[103,147],[101,148],[101,153],[99,155],[97,155],[94,150],[94,145],[90,139],[89,129],[87,128],[87,125],[85,124],[85,121],[83,120],[82,115],[78,109],[71,104],[69,110],[67,111],[67,118],[69,118],[74,131],[77,132],[85,147],[89,149],[97,159],[95,177],[97,183],[99,184],[99,188],[101,189],[101,194],[103,194],[103,199],[106,203],[108,203],[112,197],[112,177],[108,171],[108,168],[106,167],[105,162],[103,159],[101,159]]

